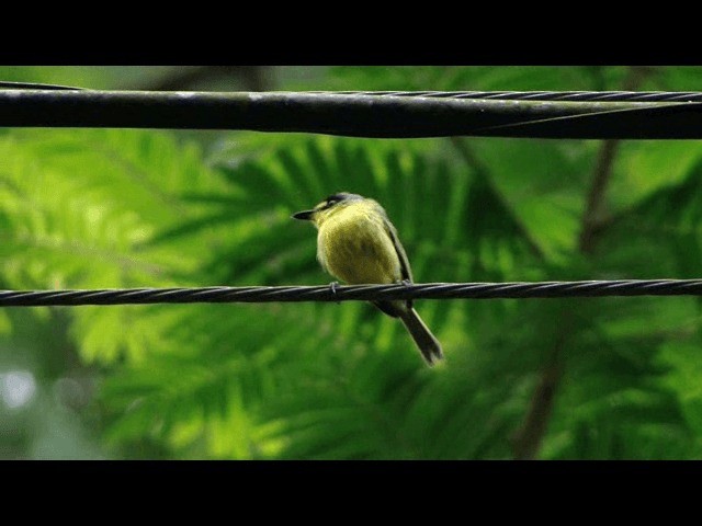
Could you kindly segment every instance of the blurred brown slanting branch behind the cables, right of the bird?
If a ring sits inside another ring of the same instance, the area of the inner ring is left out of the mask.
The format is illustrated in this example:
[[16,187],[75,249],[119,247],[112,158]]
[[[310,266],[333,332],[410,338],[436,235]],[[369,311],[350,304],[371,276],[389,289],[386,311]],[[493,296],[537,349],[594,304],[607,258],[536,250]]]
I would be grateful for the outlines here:
[[[647,67],[632,67],[623,82],[624,91],[636,90],[646,77],[654,75],[655,69]],[[604,225],[602,207],[605,192],[611,180],[614,159],[619,149],[619,140],[604,140],[597,156],[597,162],[592,173],[592,185],[588,193],[585,213],[582,214],[578,249],[581,254],[590,255],[595,250],[595,237]],[[541,380],[534,389],[530,409],[524,423],[514,434],[512,449],[514,458],[535,458],[541,449],[543,438],[548,428],[548,422],[553,413],[556,391],[563,375],[562,363],[563,348],[565,347],[565,329],[573,321],[573,312],[566,311],[562,321],[558,342],[554,346],[548,363],[541,374]]]

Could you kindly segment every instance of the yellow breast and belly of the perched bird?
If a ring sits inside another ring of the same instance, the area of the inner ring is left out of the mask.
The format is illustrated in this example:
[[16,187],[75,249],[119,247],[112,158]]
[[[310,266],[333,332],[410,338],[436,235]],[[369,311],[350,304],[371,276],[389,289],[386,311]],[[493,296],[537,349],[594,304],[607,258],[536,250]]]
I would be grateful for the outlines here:
[[383,216],[373,211],[354,204],[335,210],[319,226],[317,259],[329,274],[351,285],[401,279]]

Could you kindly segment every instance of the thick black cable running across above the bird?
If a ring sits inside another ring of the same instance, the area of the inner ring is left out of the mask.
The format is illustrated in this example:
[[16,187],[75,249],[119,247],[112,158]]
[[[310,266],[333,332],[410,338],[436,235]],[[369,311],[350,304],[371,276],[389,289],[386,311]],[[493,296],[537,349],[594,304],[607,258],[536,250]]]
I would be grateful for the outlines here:
[[0,89],[0,126],[355,137],[702,138],[702,93]]

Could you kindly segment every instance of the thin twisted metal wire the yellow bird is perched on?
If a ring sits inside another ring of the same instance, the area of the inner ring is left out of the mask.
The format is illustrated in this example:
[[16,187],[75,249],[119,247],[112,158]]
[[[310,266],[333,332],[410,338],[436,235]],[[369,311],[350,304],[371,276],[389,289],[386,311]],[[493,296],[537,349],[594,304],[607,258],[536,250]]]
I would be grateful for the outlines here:
[[702,279],[615,279],[536,283],[0,290],[0,307],[349,301],[393,299],[585,298],[702,296]]

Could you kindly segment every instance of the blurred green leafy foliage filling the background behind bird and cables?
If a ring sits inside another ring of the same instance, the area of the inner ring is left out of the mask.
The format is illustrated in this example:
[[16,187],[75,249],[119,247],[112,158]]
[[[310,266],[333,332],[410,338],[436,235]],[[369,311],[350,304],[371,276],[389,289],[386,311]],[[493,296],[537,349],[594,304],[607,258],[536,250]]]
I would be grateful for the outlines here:
[[[195,69],[179,89],[204,89],[212,76],[197,80]],[[227,72],[220,89],[252,83],[241,77],[249,70]],[[0,80],[147,89],[181,73],[13,67]],[[702,81],[702,68],[257,75],[281,90],[618,90],[635,80],[693,91]],[[3,129],[0,286],[328,283],[314,230],[290,214],[338,191],[385,206],[418,282],[700,277],[699,142],[614,146],[602,168],[592,140]],[[598,170],[605,191],[588,210]],[[591,250],[580,242],[588,214]],[[702,454],[699,300],[418,310],[444,345],[433,369],[396,320],[360,302],[0,310],[0,457]]]

